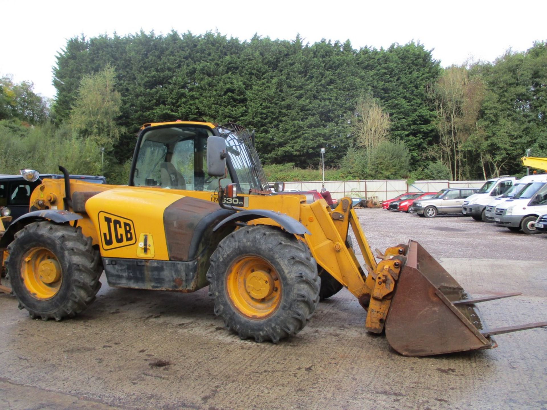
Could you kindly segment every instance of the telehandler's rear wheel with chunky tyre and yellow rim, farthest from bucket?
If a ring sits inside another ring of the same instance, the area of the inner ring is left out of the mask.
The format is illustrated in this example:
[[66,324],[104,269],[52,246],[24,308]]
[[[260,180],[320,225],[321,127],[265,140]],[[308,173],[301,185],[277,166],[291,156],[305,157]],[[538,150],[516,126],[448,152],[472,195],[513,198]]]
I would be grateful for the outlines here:
[[33,222],[15,234],[8,250],[11,288],[33,319],[74,317],[101,288],[100,254],[80,227]]

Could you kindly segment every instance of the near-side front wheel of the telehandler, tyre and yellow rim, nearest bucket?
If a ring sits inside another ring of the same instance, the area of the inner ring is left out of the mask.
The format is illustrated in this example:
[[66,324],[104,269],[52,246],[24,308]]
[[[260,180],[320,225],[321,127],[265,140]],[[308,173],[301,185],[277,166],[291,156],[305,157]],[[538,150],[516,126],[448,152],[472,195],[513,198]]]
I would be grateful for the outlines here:
[[266,225],[230,233],[207,272],[214,314],[241,339],[257,342],[295,335],[319,303],[321,279],[304,242]]

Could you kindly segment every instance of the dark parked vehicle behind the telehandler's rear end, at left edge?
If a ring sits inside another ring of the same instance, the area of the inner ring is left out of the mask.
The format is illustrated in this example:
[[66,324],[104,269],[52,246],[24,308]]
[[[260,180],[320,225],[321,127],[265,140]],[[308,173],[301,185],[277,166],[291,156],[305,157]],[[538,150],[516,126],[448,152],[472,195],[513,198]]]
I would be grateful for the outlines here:
[[[21,175],[0,175],[0,207],[3,208],[2,212],[9,213],[11,221],[28,212],[31,193],[44,178],[60,179],[63,175],[40,174],[34,182],[23,179]],[[100,175],[70,175],[70,178],[95,184],[106,183],[106,179]],[[10,223],[4,222],[4,227],[7,228]]]

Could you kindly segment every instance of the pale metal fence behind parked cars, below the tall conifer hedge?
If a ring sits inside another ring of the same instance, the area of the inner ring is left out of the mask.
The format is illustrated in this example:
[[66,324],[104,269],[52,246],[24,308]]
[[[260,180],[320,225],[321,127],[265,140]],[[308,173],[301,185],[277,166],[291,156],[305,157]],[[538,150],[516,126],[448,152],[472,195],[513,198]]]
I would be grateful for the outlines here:
[[[385,201],[405,192],[438,192],[444,188],[480,188],[485,181],[415,181],[411,185],[404,179],[375,179],[362,181],[325,181],[325,189],[339,200],[345,196]],[[321,181],[286,182],[285,190],[311,191],[322,188]]]

